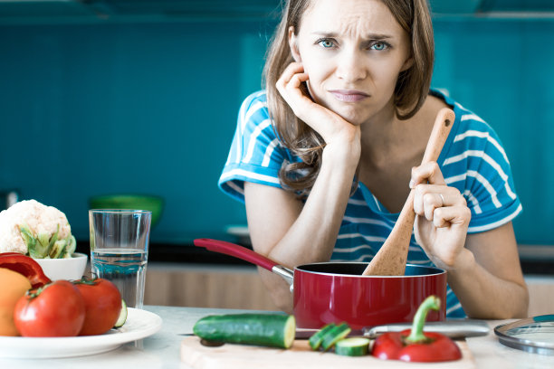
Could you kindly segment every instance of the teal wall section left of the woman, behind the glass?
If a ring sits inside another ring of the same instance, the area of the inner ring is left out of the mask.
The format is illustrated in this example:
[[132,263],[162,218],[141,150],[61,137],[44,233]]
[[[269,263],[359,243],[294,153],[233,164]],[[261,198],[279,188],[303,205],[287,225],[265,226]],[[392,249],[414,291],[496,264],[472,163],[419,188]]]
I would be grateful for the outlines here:
[[152,240],[244,223],[222,194],[239,105],[259,90],[263,24],[0,27],[0,189],[66,213],[88,239],[93,194],[166,199]]

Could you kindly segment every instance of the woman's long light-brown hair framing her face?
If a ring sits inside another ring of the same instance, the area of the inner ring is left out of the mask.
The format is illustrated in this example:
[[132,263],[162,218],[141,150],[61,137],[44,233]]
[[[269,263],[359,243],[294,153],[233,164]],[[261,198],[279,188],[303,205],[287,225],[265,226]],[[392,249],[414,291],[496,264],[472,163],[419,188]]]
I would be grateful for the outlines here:
[[[263,69],[267,104],[273,127],[285,147],[301,158],[299,163],[282,167],[282,185],[301,196],[310,192],[320,173],[325,142],[310,126],[297,118],[275,87],[285,68],[294,61],[289,46],[289,28],[298,34],[302,14],[317,0],[283,0],[282,20],[273,34]],[[433,25],[426,0],[380,0],[411,40],[413,65],[401,71],[396,80],[396,117],[413,117],[423,106],[433,74],[435,43]],[[305,85],[304,85],[305,87]],[[307,89],[305,93],[308,95]]]

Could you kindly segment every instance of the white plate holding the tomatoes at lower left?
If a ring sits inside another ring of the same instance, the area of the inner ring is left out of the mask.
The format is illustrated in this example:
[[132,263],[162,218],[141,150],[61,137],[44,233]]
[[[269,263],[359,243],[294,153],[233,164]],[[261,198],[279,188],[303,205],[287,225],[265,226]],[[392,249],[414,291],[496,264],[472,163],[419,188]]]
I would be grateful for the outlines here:
[[0,336],[0,358],[38,359],[105,353],[120,345],[158,332],[162,319],[146,310],[129,307],[127,321],[99,336],[7,337]]

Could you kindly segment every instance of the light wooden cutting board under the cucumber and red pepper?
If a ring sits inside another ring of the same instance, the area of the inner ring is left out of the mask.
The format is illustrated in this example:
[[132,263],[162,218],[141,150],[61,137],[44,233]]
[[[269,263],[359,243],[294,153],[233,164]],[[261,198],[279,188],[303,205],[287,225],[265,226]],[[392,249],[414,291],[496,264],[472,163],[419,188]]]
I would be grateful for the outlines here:
[[219,347],[200,345],[196,336],[186,337],[181,342],[181,361],[195,369],[245,369],[245,368],[406,368],[441,369],[475,368],[473,355],[465,341],[456,341],[462,350],[462,359],[444,363],[404,363],[397,360],[380,360],[374,356],[348,357],[334,353],[310,350],[308,340],[296,340],[288,350],[252,345],[225,344]]

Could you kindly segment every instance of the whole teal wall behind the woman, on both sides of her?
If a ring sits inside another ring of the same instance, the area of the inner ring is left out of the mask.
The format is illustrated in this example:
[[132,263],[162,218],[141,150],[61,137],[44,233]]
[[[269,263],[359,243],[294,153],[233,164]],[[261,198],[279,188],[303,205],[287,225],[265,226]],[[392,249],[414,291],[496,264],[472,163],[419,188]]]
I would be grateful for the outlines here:
[[[244,223],[216,182],[272,24],[0,26],[0,190],[64,211],[88,237],[93,194],[167,201],[153,241]],[[435,22],[434,86],[501,136],[524,213],[521,243],[554,244],[554,21]]]

